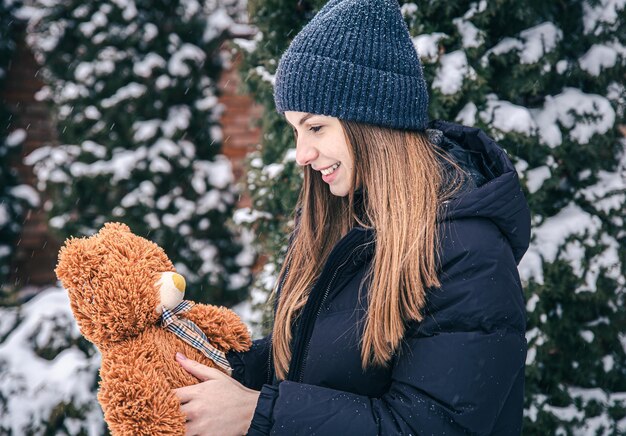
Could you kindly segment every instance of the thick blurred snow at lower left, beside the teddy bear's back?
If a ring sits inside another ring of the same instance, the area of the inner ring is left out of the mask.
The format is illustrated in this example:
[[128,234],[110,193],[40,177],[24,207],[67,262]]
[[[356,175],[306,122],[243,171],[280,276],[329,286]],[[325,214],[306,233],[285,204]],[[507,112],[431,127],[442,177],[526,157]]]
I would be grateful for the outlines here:
[[[72,402],[86,411],[81,427],[88,434],[100,434],[102,412],[92,386],[97,380],[100,355],[86,355],[72,345],[80,337],[64,290],[43,290],[19,309],[0,308],[8,312],[3,330],[15,327],[0,343],[0,392],[6,399],[6,413],[0,414],[0,429],[26,434],[27,429],[42,433],[42,424],[53,409]],[[46,344],[60,351],[52,360],[36,351]],[[68,383],[68,380],[72,380]]]

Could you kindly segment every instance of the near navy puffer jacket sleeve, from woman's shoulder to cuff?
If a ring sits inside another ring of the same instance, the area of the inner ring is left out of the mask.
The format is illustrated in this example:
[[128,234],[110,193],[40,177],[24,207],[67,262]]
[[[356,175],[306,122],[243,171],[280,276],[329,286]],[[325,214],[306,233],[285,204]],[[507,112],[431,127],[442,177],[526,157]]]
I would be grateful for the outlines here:
[[[521,284],[504,239],[481,239],[482,247],[468,249],[457,239],[448,250],[442,286],[429,294],[426,317],[407,330],[384,395],[291,381],[264,385],[249,435],[487,435],[504,420],[521,427]],[[507,401],[515,412],[501,416]]]

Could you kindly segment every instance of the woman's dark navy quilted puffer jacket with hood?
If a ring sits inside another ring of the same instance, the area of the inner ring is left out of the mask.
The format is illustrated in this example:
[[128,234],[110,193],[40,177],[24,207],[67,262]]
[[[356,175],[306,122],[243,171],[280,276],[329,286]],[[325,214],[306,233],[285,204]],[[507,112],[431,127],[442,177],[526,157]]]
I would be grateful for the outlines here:
[[526,324],[517,264],[529,243],[528,205],[510,160],[484,132],[430,127],[478,186],[446,203],[441,288],[428,290],[423,321],[409,324],[388,368],[362,371],[367,308],[358,290],[374,232],[352,229],[311,291],[287,380],[275,381],[270,338],[228,354],[234,377],[261,390],[250,435],[521,433]]

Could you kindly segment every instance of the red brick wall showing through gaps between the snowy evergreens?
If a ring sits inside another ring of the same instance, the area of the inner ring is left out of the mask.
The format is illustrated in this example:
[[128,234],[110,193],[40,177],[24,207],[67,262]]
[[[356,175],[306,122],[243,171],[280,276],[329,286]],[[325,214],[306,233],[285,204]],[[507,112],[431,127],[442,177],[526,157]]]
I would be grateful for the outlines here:
[[[240,36],[241,37],[241,36]],[[228,44],[223,47],[230,50]],[[218,82],[225,110],[221,118],[224,134],[223,153],[233,163],[233,172],[237,180],[244,176],[243,160],[260,140],[260,130],[253,128],[253,120],[261,114],[261,107],[255,105],[246,95],[237,95],[240,83],[237,74],[238,57],[233,59],[231,67],[223,72]],[[0,96],[6,101],[14,114],[10,130],[22,128],[27,132],[20,159],[15,162],[22,183],[34,186],[35,177],[30,167],[22,164],[24,156],[49,142],[56,141],[55,129],[46,103],[35,100],[35,93],[43,86],[39,78],[39,66],[23,38],[19,41],[15,54],[8,69],[7,89]],[[45,201],[45,199],[42,199]],[[246,198],[240,200],[247,205]],[[58,237],[48,229],[43,201],[38,209],[31,210],[23,223],[22,235],[14,264],[12,265],[11,284],[18,288],[24,286],[43,286],[54,284],[54,267],[60,248]]]

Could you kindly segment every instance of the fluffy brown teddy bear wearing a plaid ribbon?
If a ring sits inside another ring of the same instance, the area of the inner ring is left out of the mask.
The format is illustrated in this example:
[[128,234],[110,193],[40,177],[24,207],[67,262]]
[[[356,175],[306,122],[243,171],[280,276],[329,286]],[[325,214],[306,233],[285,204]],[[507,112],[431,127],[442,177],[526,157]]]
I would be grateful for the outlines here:
[[172,390],[198,380],[176,352],[229,374],[224,353],[251,345],[231,310],[183,301],[185,280],[163,249],[124,224],[68,239],[55,272],[81,333],[102,353],[98,401],[113,434],[184,434]]

